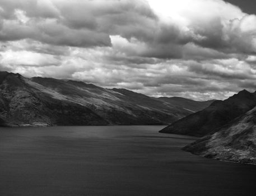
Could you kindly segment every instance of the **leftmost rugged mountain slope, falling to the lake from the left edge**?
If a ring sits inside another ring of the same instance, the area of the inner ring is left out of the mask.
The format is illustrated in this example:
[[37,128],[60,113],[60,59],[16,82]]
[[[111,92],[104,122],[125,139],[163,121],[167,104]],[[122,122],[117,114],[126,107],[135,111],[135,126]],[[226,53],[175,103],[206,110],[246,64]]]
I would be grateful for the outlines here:
[[0,78],[0,118],[7,125],[107,124],[89,108],[65,99],[54,99],[20,74],[2,72]]

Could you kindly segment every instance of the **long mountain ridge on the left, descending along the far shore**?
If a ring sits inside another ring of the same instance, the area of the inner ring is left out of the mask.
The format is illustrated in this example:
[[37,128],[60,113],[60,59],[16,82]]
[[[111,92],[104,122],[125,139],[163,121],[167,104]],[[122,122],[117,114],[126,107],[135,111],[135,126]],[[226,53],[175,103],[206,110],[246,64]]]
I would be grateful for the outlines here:
[[170,124],[196,109],[125,89],[0,72],[0,125]]

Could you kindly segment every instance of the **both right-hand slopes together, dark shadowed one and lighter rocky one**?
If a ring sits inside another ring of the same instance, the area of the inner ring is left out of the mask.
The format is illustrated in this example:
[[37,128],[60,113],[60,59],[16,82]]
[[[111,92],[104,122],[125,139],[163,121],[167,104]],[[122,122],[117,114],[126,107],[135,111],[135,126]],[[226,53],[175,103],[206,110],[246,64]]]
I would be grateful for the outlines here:
[[256,164],[256,93],[246,90],[180,119],[161,133],[203,136],[184,147],[195,155]]

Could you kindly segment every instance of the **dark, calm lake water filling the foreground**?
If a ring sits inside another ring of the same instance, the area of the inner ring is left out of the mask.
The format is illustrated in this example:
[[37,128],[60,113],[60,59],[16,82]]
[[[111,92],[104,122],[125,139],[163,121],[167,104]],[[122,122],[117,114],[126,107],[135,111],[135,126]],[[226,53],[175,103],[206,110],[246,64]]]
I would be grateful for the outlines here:
[[0,128],[0,195],[256,195],[256,166],[180,150],[161,126]]

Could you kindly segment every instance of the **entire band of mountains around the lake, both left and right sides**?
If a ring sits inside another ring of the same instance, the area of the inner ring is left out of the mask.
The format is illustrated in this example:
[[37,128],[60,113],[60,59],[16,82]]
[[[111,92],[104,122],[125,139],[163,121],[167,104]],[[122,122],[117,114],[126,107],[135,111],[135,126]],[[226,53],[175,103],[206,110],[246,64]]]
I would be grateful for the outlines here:
[[0,72],[0,125],[153,125],[161,133],[202,137],[183,150],[256,164],[256,93],[224,101],[150,97],[72,80]]

